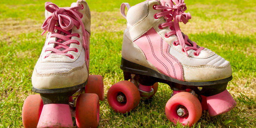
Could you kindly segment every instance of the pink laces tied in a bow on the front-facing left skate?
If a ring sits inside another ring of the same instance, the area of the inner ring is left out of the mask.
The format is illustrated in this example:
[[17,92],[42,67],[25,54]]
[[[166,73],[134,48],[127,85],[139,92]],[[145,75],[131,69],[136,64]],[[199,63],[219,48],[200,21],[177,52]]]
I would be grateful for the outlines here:
[[[51,37],[57,37],[56,41],[51,40],[48,44],[55,43],[55,47],[48,47],[46,48],[46,51],[52,51],[54,53],[47,54],[45,56],[49,57],[51,54],[57,54],[57,55],[66,55],[73,59],[73,56],[70,54],[67,54],[68,51],[75,51],[78,52],[78,50],[74,47],[69,47],[68,45],[71,43],[76,43],[79,45],[79,41],[71,39],[72,36],[77,36],[78,38],[80,35],[78,33],[69,32],[73,28],[73,26],[76,26],[77,29],[79,29],[79,26],[82,26],[83,31],[83,46],[86,48],[86,51],[88,51],[89,47],[87,45],[87,40],[85,36],[85,26],[81,20],[83,17],[83,14],[78,12],[78,9],[83,9],[83,6],[75,6],[75,7],[69,7],[69,8],[59,8],[56,4],[53,4],[52,2],[46,2],[45,3],[45,9],[52,13],[49,17],[47,17],[42,25],[42,29],[44,30],[42,35],[48,31],[52,32]],[[59,21],[59,22],[58,22]],[[58,22],[58,26],[56,23]],[[55,33],[54,30],[57,29],[58,32]],[[63,41],[64,40],[64,41]],[[61,51],[60,48],[64,48],[65,50]]]

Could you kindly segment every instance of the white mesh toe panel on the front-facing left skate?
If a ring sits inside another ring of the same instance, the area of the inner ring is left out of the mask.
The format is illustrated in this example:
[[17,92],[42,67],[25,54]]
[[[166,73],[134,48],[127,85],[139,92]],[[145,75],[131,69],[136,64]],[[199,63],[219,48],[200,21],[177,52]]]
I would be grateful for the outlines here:
[[[40,60],[40,59],[39,59]],[[66,73],[75,67],[81,67],[85,63],[85,50],[74,62],[40,62],[37,61],[35,69],[39,74]]]

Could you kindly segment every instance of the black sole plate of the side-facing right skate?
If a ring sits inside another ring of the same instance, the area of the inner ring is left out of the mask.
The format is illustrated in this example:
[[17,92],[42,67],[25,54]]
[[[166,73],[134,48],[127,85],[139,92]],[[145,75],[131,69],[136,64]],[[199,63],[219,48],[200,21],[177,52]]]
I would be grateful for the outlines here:
[[124,79],[131,79],[131,74],[135,74],[134,79],[142,85],[152,86],[156,82],[165,83],[172,90],[192,89],[195,93],[204,96],[213,96],[223,92],[227,88],[227,84],[232,80],[232,76],[217,81],[208,82],[185,82],[171,78],[167,75],[159,73],[151,68],[133,63],[122,57],[120,68],[124,71]]

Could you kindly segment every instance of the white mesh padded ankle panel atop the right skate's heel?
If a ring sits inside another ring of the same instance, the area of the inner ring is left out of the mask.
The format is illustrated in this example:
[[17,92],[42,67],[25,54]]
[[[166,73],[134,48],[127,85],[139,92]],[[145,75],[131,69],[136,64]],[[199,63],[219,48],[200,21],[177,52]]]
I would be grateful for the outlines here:
[[133,26],[148,14],[148,2],[133,6],[127,12],[127,23]]

